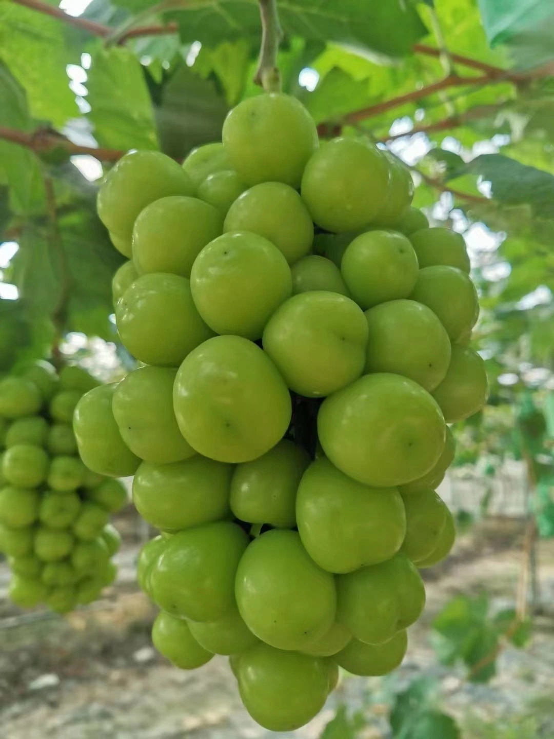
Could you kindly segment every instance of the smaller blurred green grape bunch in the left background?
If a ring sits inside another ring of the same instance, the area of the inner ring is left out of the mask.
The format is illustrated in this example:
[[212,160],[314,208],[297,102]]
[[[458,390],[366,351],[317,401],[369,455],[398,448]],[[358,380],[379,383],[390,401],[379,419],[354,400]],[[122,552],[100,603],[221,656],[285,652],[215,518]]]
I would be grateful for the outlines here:
[[46,361],[0,381],[0,551],[18,606],[66,613],[115,579],[120,536],[109,517],[126,489],[86,469],[72,430],[76,404],[96,384],[80,367],[58,375]]

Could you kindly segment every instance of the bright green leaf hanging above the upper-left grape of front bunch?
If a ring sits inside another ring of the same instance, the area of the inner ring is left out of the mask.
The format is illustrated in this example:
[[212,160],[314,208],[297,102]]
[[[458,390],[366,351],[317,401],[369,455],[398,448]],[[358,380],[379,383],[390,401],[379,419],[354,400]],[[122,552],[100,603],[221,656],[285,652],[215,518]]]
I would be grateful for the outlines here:
[[88,118],[100,146],[157,149],[154,110],[140,62],[123,47],[100,49],[89,69]]

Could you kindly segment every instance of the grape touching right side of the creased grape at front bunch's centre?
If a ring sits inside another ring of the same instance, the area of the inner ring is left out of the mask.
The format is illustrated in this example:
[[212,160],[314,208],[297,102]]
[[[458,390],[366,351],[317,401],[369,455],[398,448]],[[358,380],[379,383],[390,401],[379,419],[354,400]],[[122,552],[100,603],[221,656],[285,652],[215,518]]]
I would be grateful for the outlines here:
[[433,311],[414,300],[391,300],[366,310],[366,372],[394,372],[431,392],[446,376],[451,345]]

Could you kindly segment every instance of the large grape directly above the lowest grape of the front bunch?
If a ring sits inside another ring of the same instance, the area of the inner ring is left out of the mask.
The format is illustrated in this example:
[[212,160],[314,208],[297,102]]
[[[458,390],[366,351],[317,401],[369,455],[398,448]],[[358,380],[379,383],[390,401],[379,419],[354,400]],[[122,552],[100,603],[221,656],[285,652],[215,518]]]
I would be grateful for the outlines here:
[[335,582],[312,562],[295,531],[274,529],[242,556],[236,603],[247,627],[266,644],[304,650],[335,621]]

